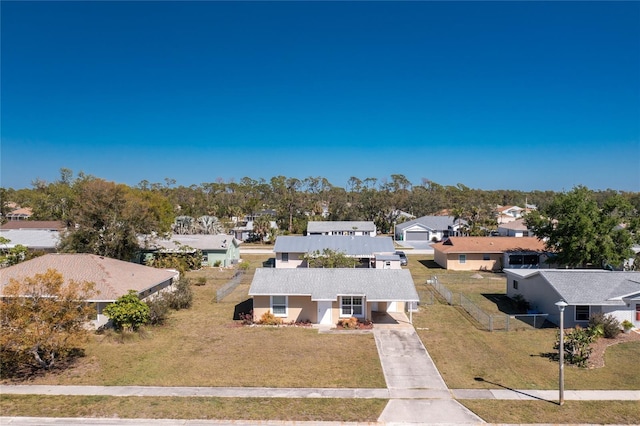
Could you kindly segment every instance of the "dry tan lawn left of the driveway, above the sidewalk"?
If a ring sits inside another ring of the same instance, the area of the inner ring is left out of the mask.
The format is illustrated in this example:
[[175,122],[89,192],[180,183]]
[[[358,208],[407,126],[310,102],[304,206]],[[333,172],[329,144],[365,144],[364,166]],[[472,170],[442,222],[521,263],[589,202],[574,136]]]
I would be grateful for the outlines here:
[[[268,256],[243,257],[255,266]],[[215,302],[215,292],[233,271],[211,268],[193,275],[206,276],[207,283],[193,286],[191,309],[172,313],[165,326],[147,328],[125,343],[113,333],[97,335],[76,365],[30,383],[385,387],[373,335],[241,326],[233,314],[235,306],[247,299],[251,271],[221,302]]]

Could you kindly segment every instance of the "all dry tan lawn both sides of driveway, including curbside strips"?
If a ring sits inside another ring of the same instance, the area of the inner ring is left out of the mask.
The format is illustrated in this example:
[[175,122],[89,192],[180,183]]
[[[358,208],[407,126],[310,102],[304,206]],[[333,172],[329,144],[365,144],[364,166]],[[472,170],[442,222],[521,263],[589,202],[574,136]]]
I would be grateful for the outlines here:
[[[432,259],[412,254],[409,269],[424,303],[413,315],[424,345],[450,388],[556,389],[557,363],[550,361],[554,329],[487,332],[479,330],[459,307],[435,299],[426,280],[437,275],[454,291],[493,308],[485,294],[504,293],[504,283],[448,273]],[[252,268],[269,255],[245,255]],[[241,327],[233,321],[236,305],[247,300],[252,272],[224,300],[216,290],[233,275],[211,268],[195,286],[189,310],[171,316],[166,326],[121,343],[98,335],[86,356],[66,371],[34,378],[30,384],[385,387],[372,335],[318,334],[307,328]],[[482,274],[485,275],[485,274]],[[484,300],[483,300],[484,299]],[[606,366],[565,369],[566,389],[640,389],[640,344],[621,344],[606,352]],[[310,362],[312,360],[312,362]],[[482,380],[477,380],[481,378]],[[34,401],[37,401],[34,402]],[[637,402],[567,401],[558,407],[541,401],[461,401],[493,423],[640,424]],[[174,417],[254,420],[375,421],[384,400],[252,398],[116,398],[72,396],[0,396],[3,415]]]

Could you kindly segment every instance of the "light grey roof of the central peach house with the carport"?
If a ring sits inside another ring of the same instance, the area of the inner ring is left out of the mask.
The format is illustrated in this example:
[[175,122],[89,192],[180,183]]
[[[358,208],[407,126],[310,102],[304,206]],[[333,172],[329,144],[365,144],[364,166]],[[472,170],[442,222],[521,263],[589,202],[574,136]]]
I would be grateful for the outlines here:
[[334,301],[341,295],[362,295],[370,302],[420,299],[406,269],[256,269],[249,296],[274,295],[311,296],[314,301]]

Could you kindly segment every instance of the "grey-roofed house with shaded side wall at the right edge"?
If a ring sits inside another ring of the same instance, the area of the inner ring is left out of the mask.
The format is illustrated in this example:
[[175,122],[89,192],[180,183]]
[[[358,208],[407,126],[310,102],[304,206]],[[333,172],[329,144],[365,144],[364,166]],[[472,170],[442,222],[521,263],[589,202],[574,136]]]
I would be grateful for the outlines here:
[[599,269],[505,269],[507,296],[521,295],[538,313],[559,323],[556,302],[564,300],[567,328],[587,327],[595,313],[613,315],[640,327],[640,272]]

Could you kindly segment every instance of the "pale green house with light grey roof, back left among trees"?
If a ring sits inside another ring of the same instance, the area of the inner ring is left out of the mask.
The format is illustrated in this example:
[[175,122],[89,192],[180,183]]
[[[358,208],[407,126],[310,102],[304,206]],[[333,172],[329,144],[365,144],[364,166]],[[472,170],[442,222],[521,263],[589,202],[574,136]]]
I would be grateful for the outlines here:
[[216,234],[174,234],[170,239],[151,239],[143,241],[140,263],[145,263],[154,253],[195,252],[202,253],[202,266],[231,266],[240,260],[240,242],[232,235]]

